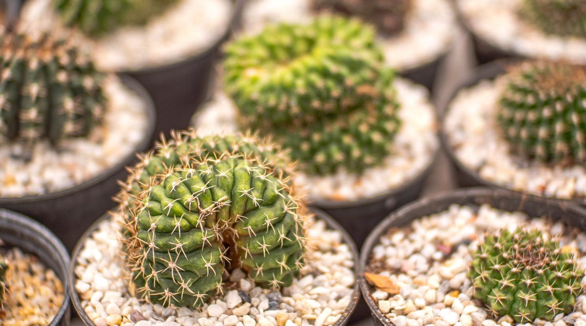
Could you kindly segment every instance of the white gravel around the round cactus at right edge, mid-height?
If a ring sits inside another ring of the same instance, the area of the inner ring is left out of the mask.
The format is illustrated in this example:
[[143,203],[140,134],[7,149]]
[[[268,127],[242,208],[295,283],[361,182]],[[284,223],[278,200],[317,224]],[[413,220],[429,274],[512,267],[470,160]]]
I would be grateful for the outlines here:
[[558,199],[586,196],[584,166],[549,167],[509,153],[495,121],[506,83],[506,77],[483,80],[459,91],[449,104],[444,132],[455,157],[481,178],[515,191]]

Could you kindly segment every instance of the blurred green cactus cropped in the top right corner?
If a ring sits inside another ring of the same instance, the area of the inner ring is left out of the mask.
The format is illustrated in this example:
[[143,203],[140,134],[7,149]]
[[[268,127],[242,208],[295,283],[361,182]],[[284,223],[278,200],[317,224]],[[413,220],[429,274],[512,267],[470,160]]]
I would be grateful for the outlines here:
[[544,33],[586,38],[583,0],[524,0],[520,16]]

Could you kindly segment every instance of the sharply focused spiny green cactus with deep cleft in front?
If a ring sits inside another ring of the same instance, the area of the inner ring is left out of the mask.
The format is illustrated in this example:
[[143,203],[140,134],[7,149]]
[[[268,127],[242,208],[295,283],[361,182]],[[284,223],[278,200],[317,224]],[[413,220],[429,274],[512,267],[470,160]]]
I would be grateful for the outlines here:
[[118,195],[136,291],[197,307],[241,267],[260,286],[290,286],[304,264],[302,206],[287,160],[251,135],[173,134],[142,157]]

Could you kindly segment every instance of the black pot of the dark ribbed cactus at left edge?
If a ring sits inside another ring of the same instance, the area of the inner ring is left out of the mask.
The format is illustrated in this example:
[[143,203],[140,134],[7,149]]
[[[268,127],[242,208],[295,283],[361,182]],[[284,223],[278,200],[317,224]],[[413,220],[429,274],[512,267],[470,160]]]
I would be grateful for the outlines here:
[[138,161],[135,152],[147,151],[151,145],[156,120],[151,97],[136,80],[125,75],[120,77],[147,104],[149,124],[144,140],[135,151],[114,167],[73,188],[39,196],[0,198],[0,208],[14,210],[38,220],[55,233],[68,250],[73,249],[77,239],[91,223],[115,206],[111,198],[120,190],[117,181],[128,175],[125,167]]

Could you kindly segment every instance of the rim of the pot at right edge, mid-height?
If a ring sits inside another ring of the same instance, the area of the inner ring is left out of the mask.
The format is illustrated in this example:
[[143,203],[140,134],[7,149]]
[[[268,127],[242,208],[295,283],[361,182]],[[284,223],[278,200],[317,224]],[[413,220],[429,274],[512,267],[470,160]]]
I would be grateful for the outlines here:
[[[448,116],[451,104],[454,101],[455,97],[458,95],[459,91],[466,89],[468,87],[475,86],[476,84],[481,82],[483,79],[493,80],[496,77],[501,76],[505,72],[506,67],[509,64],[515,64],[515,63],[522,62],[522,61],[523,61],[523,59],[520,59],[519,57],[508,58],[508,59],[499,59],[499,60],[495,60],[495,61],[492,61],[489,63],[482,64],[482,66],[477,67],[475,69],[475,71],[473,72],[472,76],[469,77],[467,80],[465,80],[465,82],[461,83],[454,90],[454,92],[450,95],[449,101],[446,103],[446,106],[443,110],[442,117],[441,117],[441,123],[440,123],[441,147],[444,148],[444,151],[448,155],[450,161],[452,162],[452,164],[454,164],[456,166],[458,171],[463,172],[466,176],[473,179],[479,185],[488,186],[490,188],[496,188],[496,189],[504,189],[507,191],[513,191],[513,192],[518,192],[518,193],[525,193],[525,192],[515,191],[513,189],[509,189],[504,186],[493,184],[492,182],[483,179],[477,172],[472,171],[472,169],[469,169],[468,167],[465,167],[464,164],[462,164],[462,162],[460,162],[458,157],[456,157],[456,154],[454,153],[454,150],[452,149],[451,145],[449,145],[449,140],[448,140],[449,137],[445,131],[445,120]],[[497,72],[497,73],[495,74],[495,72]],[[533,195],[531,193],[527,193],[527,194]],[[534,196],[540,196],[540,195],[534,195]],[[568,199],[558,199],[555,197],[546,197],[546,196],[540,196],[540,197],[553,199],[556,201],[567,201],[567,202],[578,203],[580,205],[586,205],[586,198],[584,198],[584,197],[576,197],[576,198],[569,199],[569,200]]]

